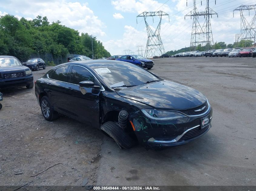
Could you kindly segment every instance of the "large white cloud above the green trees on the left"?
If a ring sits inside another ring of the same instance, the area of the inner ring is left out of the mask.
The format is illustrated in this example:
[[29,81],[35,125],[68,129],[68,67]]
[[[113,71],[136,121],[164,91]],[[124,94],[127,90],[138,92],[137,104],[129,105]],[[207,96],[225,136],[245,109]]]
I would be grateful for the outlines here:
[[61,21],[61,24],[75,28],[80,33],[89,33],[95,36],[105,36],[102,28],[105,24],[95,16],[94,12],[88,7],[88,4],[81,4],[79,2],[68,2],[67,0],[10,0],[1,2],[0,7],[17,10],[18,15],[25,15],[36,18],[41,15],[46,16],[49,22]]

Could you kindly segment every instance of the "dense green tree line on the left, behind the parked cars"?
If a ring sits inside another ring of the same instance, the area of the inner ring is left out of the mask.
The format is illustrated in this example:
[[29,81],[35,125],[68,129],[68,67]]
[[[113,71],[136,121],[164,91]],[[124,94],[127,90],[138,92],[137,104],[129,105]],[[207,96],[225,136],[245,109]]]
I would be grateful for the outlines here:
[[81,33],[62,25],[59,20],[48,22],[47,17],[37,16],[33,20],[13,15],[0,17],[0,55],[15,56],[20,60],[31,54],[52,53],[54,58],[80,54],[92,58],[110,57],[101,41],[88,33]]

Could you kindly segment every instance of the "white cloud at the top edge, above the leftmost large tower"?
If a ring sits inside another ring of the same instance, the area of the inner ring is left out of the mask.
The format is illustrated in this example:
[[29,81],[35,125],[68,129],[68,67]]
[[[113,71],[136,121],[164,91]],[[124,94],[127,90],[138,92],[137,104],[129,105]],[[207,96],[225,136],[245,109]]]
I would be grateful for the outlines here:
[[118,11],[137,12],[141,14],[144,11],[164,11],[172,12],[168,5],[163,5],[155,0],[112,0],[111,4]]

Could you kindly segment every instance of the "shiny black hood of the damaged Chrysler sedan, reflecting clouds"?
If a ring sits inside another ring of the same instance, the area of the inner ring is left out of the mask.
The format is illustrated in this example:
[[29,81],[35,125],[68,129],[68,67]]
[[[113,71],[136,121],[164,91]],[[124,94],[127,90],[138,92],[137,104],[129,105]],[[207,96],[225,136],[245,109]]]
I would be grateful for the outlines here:
[[206,101],[199,91],[165,80],[120,89],[117,94],[164,110],[198,107]]

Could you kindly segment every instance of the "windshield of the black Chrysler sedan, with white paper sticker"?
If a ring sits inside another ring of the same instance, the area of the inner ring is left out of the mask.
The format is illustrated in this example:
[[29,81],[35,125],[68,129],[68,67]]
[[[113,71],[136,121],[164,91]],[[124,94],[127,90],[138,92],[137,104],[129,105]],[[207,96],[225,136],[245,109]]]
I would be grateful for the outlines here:
[[161,80],[147,70],[129,63],[91,67],[109,87],[135,86]]

